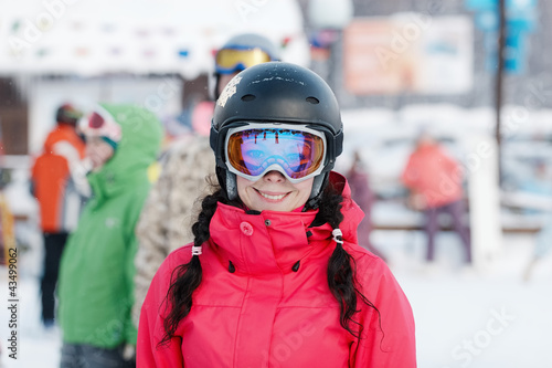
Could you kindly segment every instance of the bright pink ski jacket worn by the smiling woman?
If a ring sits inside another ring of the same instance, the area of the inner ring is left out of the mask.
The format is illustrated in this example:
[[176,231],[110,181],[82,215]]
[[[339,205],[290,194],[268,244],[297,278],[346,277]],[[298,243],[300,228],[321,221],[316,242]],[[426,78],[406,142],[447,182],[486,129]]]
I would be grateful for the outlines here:
[[141,309],[138,367],[416,367],[408,301],[385,263],[357,245],[363,213],[344,178],[331,178],[346,198],[343,246],[354,259],[360,290],[381,316],[359,303],[361,339],[339,324],[326,276],[336,243],[328,224],[309,228],[316,211],[247,214],[219,204],[200,255],[202,283],[178,338],[166,346],[158,347],[163,301],[172,270],[191,257],[191,244],[172,252],[151,282]]

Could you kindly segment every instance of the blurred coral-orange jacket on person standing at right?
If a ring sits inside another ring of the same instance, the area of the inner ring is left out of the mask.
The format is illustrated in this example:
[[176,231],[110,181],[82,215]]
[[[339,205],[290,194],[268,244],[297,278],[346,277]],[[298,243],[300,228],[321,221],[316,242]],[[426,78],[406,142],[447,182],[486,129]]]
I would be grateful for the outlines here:
[[413,193],[422,194],[427,208],[445,206],[464,196],[461,168],[438,145],[418,147],[401,177]]

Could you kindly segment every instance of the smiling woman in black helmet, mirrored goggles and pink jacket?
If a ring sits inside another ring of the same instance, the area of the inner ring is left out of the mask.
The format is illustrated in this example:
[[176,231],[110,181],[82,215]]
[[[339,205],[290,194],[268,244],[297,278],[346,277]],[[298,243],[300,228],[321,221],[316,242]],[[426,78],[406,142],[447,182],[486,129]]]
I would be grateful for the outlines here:
[[[141,309],[139,367],[415,367],[410,304],[357,244],[336,97],[315,73],[248,67],[215,106],[220,188]],[[185,168],[182,168],[185,169]]]

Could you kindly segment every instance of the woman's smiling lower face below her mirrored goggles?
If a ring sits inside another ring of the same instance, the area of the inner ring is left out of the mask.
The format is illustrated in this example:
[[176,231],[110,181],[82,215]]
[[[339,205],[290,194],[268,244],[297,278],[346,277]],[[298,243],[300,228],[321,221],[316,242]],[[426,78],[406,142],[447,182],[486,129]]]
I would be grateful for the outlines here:
[[289,212],[307,202],[314,180],[309,178],[294,185],[275,170],[257,181],[236,176],[237,194],[250,210]]

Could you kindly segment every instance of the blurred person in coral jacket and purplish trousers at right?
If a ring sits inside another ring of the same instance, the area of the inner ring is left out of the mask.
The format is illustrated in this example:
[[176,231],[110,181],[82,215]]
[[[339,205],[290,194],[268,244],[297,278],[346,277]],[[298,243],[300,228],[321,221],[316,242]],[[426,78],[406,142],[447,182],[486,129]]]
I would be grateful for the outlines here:
[[453,220],[453,228],[464,244],[464,261],[470,264],[471,243],[469,229],[464,223],[466,209],[461,187],[461,167],[427,129],[422,129],[420,133],[416,148],[408,157],[401,180],[410,190],[408,206],[425,214],[426,261],[433,262],[435,257],[438,218],[440,213],[448,213]]

